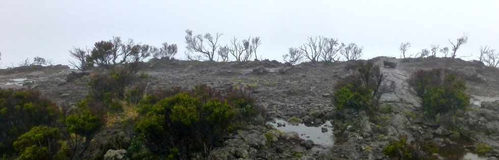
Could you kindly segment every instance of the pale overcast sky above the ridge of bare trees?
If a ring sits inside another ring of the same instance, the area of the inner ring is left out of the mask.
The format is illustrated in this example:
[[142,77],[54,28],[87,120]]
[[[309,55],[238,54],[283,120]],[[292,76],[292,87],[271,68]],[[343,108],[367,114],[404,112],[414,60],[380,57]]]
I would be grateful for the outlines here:
[[179,45],[185,58],[185,29],[261,37],[258,53],[282,59],[308,36],[326,36],[364,47],[363,58],[409,54],[430,44],[469,34],[458,56],[477,55],[481,45],[499,50],[499,1],[0,1],[0,66],[34,56],[67,64],[73,46],[92,47],[113,36],[159,46]]

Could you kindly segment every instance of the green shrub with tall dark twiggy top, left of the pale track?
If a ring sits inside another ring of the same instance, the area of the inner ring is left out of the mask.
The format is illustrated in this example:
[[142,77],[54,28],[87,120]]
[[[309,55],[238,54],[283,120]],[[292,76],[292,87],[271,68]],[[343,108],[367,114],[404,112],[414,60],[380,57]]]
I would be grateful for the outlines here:
[[332,103],[336,109],[352,108],[357,111],[377,111],[381,95],[393,91],[395,83],[386,83],[379,66],[372,60],[357,61],[356,72],[335,86]]

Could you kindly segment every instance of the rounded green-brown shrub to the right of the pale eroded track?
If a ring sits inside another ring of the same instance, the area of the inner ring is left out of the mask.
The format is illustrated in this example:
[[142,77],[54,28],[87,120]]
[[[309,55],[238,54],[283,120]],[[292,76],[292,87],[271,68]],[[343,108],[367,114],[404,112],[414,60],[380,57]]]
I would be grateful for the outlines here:
[[426,115],[452,113],[469,105],[465,82],[446,69],[419,70],[408,79]]

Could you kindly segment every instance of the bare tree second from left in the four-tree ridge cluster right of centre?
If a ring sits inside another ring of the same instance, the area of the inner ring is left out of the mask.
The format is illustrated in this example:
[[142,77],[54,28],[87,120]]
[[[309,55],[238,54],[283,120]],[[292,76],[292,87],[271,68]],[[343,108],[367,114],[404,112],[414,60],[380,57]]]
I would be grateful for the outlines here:
[[326,43],[326,38],[321,36],[309,37],[307,42],[300,46],[300,50],[303,51],[303,55],[312,62],[319,60],[319,56],[322,54],[324,44]]

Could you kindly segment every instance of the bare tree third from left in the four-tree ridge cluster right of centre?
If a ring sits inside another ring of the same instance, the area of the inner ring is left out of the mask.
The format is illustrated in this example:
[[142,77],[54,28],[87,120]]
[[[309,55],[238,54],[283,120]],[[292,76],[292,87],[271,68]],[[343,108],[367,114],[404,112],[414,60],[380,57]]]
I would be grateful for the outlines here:
[[340,56],[338,56],[338,52],[341,51],[344,47],[344,43],[339,43],[337,39],[324,39],[324,47],[321,53],[321,60],[327,62],[334,62],[340,60]]

